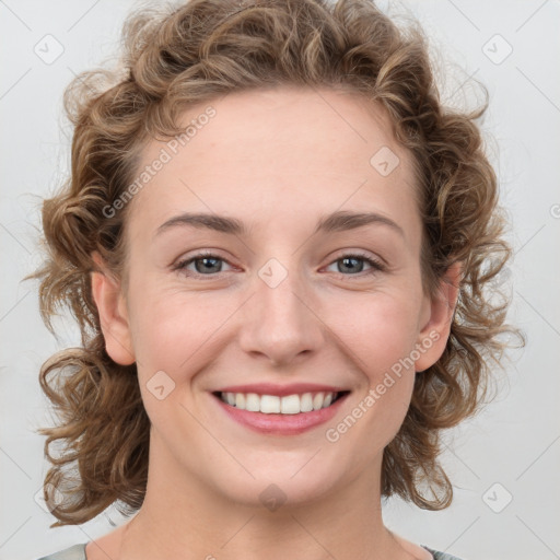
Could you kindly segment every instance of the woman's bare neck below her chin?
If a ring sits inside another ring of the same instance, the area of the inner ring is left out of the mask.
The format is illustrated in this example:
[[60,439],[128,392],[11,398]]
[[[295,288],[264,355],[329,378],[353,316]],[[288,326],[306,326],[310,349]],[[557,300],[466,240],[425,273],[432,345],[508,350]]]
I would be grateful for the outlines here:
[[258,500],[242,504],[186,477],[184,468],[163,460],[162,450],[152,458],[160,463],[149,472],[141,510],[124,528],[119,560],[422,558],[383,524],[381,457],[370,469],[377,475],[362,470],[320,498],[292,503],[287,497],[273,510]]

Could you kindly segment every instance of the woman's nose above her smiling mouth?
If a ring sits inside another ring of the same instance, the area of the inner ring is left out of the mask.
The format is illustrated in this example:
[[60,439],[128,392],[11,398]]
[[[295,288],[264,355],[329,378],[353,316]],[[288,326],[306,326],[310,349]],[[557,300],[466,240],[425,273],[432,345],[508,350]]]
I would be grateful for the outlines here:
[[[278,264],[260,272],[254,279],[254,295],[243,306],[241,348],[275,366],[293,365],[324,341],[317,299],[304,279]],[[277,284],[279,275],[287,276]]]

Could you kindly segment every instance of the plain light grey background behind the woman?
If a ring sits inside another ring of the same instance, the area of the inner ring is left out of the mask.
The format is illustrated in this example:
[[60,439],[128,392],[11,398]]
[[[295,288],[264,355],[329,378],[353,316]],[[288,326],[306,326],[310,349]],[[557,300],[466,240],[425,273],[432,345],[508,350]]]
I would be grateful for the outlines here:
[[[0,0],[0,560],[35,559],[107,533],[109,518],[121,522],[108,512],[82,526],[50,529],[55,517],[35,501],[48,467],[44,439],[34,432],[49,421],[38,370],[79,339],[71,324],[59,327],[59,341],[48,334],[36,285],[21,279],[38,264],[40,197],[68,172],[71,130],[61,116],[62,91],[73,74],[115,55],[121,22],[140,5]],[[445,101],[468,100],[470,78],[489,89],[483,130],[515,248],[502,279],[513,293],[510,320],[528,339],[524,351],[511,353],[499,398],[446,435],[453,505],[434,513],[390,501],[386,523],[465,560],[560,558],[560,2],[380,5],[420,19],[441,52]],[[49,34],[56,42],[45,38]],[[57,48],[63,52],[48,59]]]

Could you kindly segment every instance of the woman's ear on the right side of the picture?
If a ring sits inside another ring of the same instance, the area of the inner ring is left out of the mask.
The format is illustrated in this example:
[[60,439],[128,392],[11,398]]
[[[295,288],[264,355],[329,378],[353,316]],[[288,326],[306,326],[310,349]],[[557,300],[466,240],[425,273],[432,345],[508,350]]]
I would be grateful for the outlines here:
[[450,338],[451,324],[457,305],[459,284],[463,277],[463,262],[450,266],[440,282],[434,298],[424,298],[421,325],[416,346],[420,357],[415,361],[416,371],[423,372],[443,354]]

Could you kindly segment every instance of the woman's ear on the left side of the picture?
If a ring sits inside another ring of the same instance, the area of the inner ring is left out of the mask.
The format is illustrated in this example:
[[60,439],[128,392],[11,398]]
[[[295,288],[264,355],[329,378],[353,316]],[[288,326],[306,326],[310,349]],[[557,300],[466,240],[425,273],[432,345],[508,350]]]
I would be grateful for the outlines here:
[[105,349],[120,365],[135,363],[126,301],[120,283],[108,272],[102,256],[92,255],[98,270],[91,272],[92,294],[100,314]]

